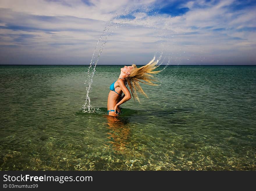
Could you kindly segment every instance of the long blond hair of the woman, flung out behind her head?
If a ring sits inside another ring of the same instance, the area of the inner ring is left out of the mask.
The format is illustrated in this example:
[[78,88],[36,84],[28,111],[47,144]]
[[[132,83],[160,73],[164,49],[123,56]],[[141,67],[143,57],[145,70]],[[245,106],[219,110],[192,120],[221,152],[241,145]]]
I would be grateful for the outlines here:
[[137,68],[137,66],[133,64],[132,65],[133,69],[130,71],[130,75],[125,78],[128,86],[131,89],[131,94],[133,99],[135,100],[136,98],[138,102],[140,102],[140,100],[138,98],[137,90],[142,94],[144,94],[146,97],[148,97],[147,94],[141,88],[139,82],[145,83],[150,86],[158,86],[157,84],[152,83],[152,81],[155,82],[158,80],[151,74],[157,74],[162,70],[153,71],[159,66],[157,65],[158,60],[157,61],[154,61],[154,60],[155,60],[155,57],[147,65],[141,66],[140,68]]

